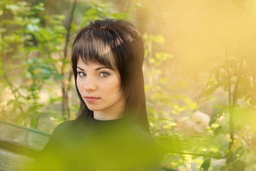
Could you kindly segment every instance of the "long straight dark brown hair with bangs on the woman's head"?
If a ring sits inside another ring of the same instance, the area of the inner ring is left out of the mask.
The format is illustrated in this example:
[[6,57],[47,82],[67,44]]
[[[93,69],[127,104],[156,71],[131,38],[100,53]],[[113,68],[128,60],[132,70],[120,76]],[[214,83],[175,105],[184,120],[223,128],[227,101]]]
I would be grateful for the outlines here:
[[134,25],[113,19],[91,21],[78,31],[71,58],[76,91],[80,98],[77,119],[89,121],[93,117],[93,111],[86,106],[76,84],[76,67],[80,58],[85,64],[99,63],[119,72],[121,90],[126,98],[124,114],[149,132],[142,73],[144,44]]

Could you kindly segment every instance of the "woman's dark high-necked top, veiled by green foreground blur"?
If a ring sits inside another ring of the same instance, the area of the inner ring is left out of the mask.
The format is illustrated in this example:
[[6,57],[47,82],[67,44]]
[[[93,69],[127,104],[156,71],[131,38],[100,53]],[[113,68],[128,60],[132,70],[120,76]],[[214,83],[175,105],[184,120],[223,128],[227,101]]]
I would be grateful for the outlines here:
[[72,120],[53,131],[33,171],[162,171],[149,133],[126,118]]

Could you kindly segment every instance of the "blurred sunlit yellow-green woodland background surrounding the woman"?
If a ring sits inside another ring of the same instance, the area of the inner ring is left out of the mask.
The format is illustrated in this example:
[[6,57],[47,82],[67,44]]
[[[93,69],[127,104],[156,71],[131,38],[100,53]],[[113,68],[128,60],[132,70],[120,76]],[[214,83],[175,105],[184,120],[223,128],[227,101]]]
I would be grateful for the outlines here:
[[49,135],[75,118],[71,45],[105,18],[132,22],[143,37],[163,167],[255,171],[255,0],[1,0],[0,140],[17,137],[6,124]]

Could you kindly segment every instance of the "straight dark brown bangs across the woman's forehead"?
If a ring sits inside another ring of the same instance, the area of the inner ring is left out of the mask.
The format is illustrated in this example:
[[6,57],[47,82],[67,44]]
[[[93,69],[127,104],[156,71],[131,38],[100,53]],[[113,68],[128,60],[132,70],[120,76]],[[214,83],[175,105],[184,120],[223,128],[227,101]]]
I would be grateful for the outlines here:
[[84,33],[73,45],[73,60],[77,64],[80,58],[85,64],[98,63],[117,70],[116,58],[109,43],[112,37],[107,31],[97,29]]

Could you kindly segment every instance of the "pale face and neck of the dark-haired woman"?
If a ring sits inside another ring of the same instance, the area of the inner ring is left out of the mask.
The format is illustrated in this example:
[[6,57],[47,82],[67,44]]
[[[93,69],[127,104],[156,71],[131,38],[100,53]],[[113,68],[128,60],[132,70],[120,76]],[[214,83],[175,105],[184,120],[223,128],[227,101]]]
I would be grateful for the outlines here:
[[[76,84],[86,106],[95,113],[108,118],[120,113],[125,106],[118,71],[98,63],[77,62]],[[115,119],[115,118],[113,118]]]

